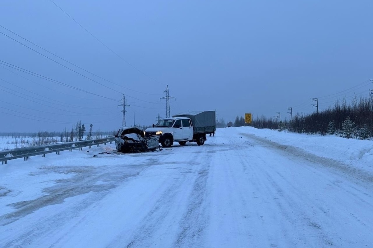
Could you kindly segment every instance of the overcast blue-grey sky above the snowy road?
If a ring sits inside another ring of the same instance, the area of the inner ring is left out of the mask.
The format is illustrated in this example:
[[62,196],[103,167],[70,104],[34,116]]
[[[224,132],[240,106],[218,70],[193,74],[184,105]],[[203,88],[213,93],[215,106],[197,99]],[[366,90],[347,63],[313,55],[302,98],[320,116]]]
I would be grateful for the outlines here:
[[122,94],[126,124],[135,115],[151,125],[166,115],[167,84],[171,115],[216,109],[226,122],[249,111],[310,113],[310,98],[322,110],[373,88],[371,0],[53,1],[121,58],[50,0],[1,1],[0,32],[76,72],[0,33],[1,61],[59,82],[0,62],[0,132],[62,131],[77,120],[118,129]]

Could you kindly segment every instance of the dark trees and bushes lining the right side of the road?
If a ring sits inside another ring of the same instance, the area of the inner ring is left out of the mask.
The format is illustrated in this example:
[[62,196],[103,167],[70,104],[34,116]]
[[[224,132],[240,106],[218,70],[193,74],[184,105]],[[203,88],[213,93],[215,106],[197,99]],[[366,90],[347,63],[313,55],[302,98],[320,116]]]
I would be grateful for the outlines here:
[[[244,117],[237,116],[234,126],[245,126]],[[293,120],[276,121],[265,116],[257,117],[251,123],[255,128],[270,128],[282,131],[288,129],[297,133],[321,135],[336,134],[345,138],[372,138],[373,97],[355,98],[351,103],[336,101],[333,107],[308,115],[297,113]]]

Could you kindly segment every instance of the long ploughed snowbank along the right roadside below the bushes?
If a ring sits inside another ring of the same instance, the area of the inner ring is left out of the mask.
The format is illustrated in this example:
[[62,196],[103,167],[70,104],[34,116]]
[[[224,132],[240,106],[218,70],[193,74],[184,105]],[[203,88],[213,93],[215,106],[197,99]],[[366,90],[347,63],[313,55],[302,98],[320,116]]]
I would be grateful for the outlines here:
[[233,133],[248,133],[282,145],[304,149],[320,157],[331,158],[373,172],[373,141],[346,139],[336,135],[308,135],[253,127],[229,128]]

